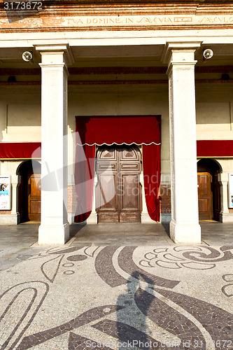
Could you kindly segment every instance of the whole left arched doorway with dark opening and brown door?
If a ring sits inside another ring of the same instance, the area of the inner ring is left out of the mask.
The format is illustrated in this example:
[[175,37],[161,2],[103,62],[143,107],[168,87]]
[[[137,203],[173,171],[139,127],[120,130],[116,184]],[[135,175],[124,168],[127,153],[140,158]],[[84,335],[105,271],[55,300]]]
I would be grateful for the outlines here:
[[41,164],[36,160],[23,162],[17,170],[20,223],[41,221]]

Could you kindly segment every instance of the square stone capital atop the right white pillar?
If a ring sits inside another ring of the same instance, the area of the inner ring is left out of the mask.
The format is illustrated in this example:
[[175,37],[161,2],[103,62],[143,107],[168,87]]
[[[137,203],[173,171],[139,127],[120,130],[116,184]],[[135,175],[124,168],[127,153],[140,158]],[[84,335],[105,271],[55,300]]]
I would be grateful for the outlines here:
[[[179,62],[179,55],[181,52],[186,52],[188,54],[193,53],[200,48],[202,45],[202,41],[167,41],[164,46],[164,51],[162,52],[162,62],[170,64],[171,57],[173,53],[176,53],[176,63]],[[173,57],[174,58],[174,57]],[[187,63],[181,60],[180,63]]]

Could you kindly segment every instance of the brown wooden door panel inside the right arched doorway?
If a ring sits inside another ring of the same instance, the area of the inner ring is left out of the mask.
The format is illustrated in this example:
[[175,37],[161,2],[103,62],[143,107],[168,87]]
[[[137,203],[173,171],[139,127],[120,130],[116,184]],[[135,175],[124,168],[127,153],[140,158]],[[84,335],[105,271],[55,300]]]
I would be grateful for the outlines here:
[[211,174],[208,172],[197,173],[197,182],[199,220],[211,220],[213,218]]

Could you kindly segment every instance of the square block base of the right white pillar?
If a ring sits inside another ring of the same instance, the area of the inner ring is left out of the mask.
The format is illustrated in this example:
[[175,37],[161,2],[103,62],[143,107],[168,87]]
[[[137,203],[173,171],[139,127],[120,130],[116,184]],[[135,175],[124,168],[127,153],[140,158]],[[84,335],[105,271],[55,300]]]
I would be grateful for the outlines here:
[[175,243],[200,244],[202,242],[201,226],[199,224],[170,223],[170,238]]

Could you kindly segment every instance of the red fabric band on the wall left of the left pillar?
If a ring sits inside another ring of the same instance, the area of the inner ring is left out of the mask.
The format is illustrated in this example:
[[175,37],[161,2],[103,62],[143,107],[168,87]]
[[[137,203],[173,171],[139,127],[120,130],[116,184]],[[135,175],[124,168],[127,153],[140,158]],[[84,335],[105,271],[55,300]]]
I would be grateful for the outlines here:
[[41,158],[41,142],[0,142],[1,160],[31,158]]

